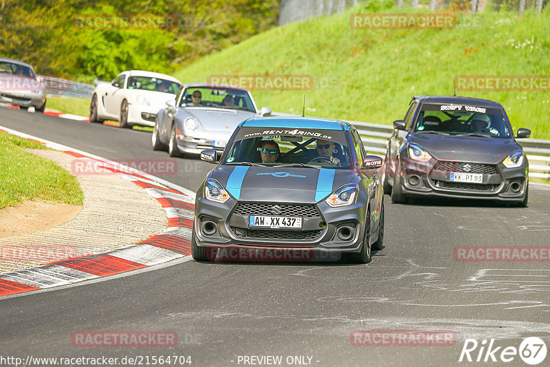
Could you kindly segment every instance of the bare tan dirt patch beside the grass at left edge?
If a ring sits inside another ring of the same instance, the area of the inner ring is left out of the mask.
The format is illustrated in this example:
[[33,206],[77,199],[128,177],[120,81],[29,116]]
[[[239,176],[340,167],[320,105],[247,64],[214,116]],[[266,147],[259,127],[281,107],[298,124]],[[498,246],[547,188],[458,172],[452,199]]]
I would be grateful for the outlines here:
[[21,205],[0,209],[0,238],[19,236],[72,221],[82,205],[25,201]]

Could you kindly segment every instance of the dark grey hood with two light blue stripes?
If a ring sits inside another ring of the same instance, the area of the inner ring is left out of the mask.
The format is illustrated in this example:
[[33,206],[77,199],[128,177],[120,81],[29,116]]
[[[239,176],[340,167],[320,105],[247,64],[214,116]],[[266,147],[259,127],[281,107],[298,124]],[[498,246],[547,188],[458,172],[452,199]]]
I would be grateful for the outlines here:
[[352,170],[296,167],[219,166],[210,177],[235,199],[278,203],[316,203],[359,181]]

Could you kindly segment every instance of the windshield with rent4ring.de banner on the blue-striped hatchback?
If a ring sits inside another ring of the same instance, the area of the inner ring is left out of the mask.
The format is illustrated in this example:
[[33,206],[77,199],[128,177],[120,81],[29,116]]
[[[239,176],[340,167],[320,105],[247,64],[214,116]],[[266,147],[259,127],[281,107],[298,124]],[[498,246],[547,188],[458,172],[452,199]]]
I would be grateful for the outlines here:
[[243,127],[221,164],[261,164],[349,169],[344,131]]

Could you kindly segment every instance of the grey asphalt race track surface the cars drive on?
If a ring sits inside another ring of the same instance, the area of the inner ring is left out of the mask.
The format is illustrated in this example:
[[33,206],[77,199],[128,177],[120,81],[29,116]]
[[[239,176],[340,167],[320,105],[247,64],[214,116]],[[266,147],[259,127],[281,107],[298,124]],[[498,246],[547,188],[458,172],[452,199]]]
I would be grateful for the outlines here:
[[[168,158],[152,151],[151,133],[143,131],[3,108],[0,126],[108,159]],[[177,174],[161,177],[195,191],[214,166],[178,159],[178,167]],[[549,187],[531,184],[529,208],[483,201],[397,205],[387,195],[385,203],[386,247],[369,265],[179,260],[3,298],[0,354],[119,361],[184,355],[191,366],[244,366],[251,365],[244,356],[268,355],[282,356],[283,366],[454,366],[469,338],[480,344],[471,353],[474,361],[483,340],[495,339],[494,346],[501,347],[497,359],[505,347],[519,348],[525,337],[540,337],[550,348],[548,254],[546,261],[507,262],[463,262],[454,256],[458,246],[548,245]],[[456,342],[353,346],[350,335],[358,330],[450,331]],[[178,343],[173,348],[74,346],[72,335],[80,331],[170,331]],[[509,363],[461,365],[527,366],[520,356],[512,357]],[[260,360],[270,361],[248,359]],[[549,361],[547,356],[540,366]]]

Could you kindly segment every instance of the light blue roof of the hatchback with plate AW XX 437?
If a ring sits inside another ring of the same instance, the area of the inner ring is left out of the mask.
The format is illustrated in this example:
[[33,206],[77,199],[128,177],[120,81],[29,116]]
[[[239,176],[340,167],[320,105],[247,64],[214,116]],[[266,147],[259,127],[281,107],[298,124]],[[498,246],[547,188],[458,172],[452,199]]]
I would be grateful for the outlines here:
[[330,120],[327,118],[308,118],[301,116],[271,116],[267,118],[251,118],[241,122],[242,127],[276,127],[287,129],[320,129],[320,130],[352,130],[348,122]]

